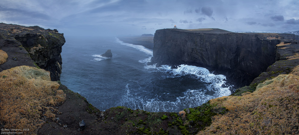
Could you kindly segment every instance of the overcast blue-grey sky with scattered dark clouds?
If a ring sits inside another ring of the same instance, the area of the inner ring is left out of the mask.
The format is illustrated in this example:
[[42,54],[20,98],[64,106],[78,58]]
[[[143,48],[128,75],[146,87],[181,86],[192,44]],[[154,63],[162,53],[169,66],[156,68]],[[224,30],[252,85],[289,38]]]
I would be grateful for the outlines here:
[[157,29],[297,31],[299,0],[0,0],[0,22],[65,35],[141,35]]

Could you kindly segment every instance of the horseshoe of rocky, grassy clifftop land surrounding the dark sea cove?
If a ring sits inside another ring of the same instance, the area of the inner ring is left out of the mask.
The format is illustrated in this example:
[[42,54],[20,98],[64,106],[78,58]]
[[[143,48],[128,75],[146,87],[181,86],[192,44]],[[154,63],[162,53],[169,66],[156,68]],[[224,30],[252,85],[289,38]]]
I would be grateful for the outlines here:
[[55,135],[299,133],[299,45],[291,34],[157,30],[157,65],[204,66],[239,78],[236,86],[250,84],[181,112],[98,110],[58,81],[63,34],[0,23],[0,35],[1,129]]

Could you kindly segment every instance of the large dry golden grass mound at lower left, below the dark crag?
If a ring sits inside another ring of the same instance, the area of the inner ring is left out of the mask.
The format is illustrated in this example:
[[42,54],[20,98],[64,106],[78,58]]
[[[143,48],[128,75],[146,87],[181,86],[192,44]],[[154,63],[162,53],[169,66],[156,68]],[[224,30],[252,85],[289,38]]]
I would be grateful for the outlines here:
[[18,66],[0,72],[0,120],[5,128],[29,128],[24,134],[37,134],[45,123],[44,116],[55,118],[53,105],[65,100],[58,87],[50,81],[50,72],[43,69]]

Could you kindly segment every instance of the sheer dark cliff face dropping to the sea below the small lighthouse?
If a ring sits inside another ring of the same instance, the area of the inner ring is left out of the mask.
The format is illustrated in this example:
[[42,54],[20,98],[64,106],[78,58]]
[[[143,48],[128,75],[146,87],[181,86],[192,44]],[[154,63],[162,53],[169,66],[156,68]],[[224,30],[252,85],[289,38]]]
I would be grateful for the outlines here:
[[275,45],[279,43],[261,34],[220,29],[159,29],[154,36],[152,63],[205,67],[226,75],[228,83],[240,87],[250,84],[275,62]]

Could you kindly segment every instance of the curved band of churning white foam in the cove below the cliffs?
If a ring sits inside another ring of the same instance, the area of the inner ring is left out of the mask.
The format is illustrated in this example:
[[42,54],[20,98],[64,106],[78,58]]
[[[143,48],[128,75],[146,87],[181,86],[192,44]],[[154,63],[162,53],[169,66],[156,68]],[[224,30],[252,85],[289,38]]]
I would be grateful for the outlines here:
[[[224,75],[214,75],[207,69],[197,66],[180,65],[177,69],[171,69],[168,65],[156,67],[156,65],[145,66],[150,72],[165,72],[169,78],[182,75],[194,75],[197,79],[207,83],[206,89],[190,90],[184,92],[184,96],[177,97],[175,101],[161,101],[160,97],[153,99],[144,99],[137,97],[136,94],[130,94],[129,84],[126,85],[127,93],[123,95],[120,106],[128,106],[132,109],[143,109],[152,112],[178,112],[178,108],[190,108],[200,106],[213,98],[228,96],[231,94],[230,86],[222,87],[225,84]],[[213,92],[211,92],[214,90]],[[210,91],[212,94],[207,94]]]

